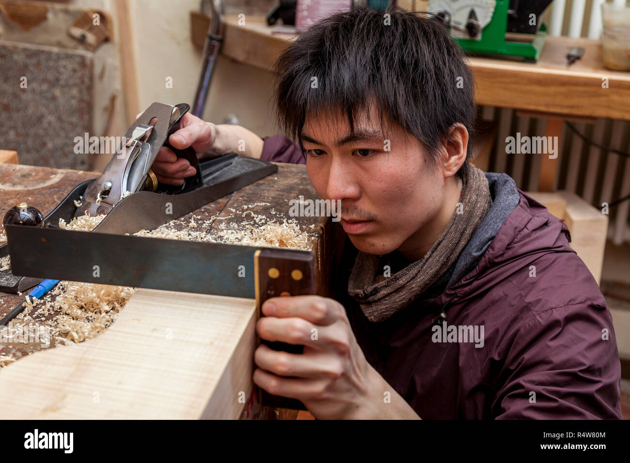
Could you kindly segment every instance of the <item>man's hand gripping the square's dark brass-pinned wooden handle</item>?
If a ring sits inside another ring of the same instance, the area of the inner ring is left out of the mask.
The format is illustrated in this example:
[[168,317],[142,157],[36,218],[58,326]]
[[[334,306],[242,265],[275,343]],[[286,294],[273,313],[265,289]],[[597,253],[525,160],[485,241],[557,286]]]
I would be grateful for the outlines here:
[[345,309],[319,296],[273,297],[256,331],[268,341],[304,345],[304,353],[256,349],[254,382],[275,396],[299,399],[318,419],[370,418],[382,402],[381,375],[365,360]]

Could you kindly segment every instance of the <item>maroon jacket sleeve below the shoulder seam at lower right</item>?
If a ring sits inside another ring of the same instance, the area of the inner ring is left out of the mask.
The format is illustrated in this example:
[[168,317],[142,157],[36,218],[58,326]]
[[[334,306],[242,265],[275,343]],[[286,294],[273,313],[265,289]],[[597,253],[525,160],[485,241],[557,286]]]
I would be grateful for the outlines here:
[[496,419],[621,419],[621,365],[605,306],[571,304],[536,314],[503,352]]

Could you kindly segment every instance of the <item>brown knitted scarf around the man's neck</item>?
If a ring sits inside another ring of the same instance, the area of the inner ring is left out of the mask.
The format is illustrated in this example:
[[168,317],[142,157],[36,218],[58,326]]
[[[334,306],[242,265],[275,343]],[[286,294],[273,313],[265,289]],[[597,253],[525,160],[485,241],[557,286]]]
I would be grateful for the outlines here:
[[488,180],[481,169],[465,162],[461,178],[462,208],[450,219],[425,256],[391,277],[384,276],[388,256],[359,251],[348,280],[348,294],[367,319],[384,321],[423,294],[457,260],[492,205]]

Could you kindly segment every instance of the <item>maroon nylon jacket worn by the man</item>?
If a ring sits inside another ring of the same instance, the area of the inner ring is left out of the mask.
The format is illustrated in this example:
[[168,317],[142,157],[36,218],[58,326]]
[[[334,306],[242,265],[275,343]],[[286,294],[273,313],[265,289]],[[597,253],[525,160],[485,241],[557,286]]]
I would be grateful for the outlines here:
[[[306,162],[282,135],[265,139],[262,157]],[[430,302],[368,321],[347,294],[348,240],[335,299],[370,365],[421,418],[619,419],[621,365],[604,296],[564,222],[518,193],[474,270]],[[483,347],[434,342],[442,310],[447,326],[484,326]]]

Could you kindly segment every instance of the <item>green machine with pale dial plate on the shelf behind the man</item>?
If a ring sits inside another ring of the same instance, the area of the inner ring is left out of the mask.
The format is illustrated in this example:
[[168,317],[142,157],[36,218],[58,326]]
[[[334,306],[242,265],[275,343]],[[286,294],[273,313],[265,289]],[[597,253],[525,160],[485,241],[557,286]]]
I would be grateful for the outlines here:
[[552,0],[429,0],[428,13],[471,54],[537,62],[547,37],[540,20]]

